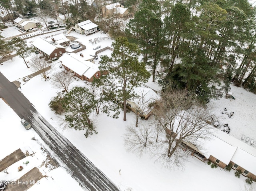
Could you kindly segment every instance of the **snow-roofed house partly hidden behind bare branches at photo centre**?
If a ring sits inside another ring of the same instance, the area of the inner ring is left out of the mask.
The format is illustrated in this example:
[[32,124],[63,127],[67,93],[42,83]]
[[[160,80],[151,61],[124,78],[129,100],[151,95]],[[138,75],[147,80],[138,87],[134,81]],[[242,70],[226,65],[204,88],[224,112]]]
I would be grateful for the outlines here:
[[132,110],[134,113],[138,113],[140,116],[148,119],[151,115],[152,110],[148,106],[150,102],[154,102],[159,99],[160,96],[148,87],[136,87],[133,89],[134,93],[138,97],[132,98],[126,101],[126,106]]

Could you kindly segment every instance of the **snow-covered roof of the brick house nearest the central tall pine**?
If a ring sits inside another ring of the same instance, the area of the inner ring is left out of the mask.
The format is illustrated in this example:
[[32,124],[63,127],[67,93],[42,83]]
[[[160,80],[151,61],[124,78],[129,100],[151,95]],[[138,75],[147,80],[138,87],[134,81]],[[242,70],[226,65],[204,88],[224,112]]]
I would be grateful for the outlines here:
[[62,64],[80,76],[84,75],[89,79],[99,70],[98,66],[75,53],[64,53],[60,58]]

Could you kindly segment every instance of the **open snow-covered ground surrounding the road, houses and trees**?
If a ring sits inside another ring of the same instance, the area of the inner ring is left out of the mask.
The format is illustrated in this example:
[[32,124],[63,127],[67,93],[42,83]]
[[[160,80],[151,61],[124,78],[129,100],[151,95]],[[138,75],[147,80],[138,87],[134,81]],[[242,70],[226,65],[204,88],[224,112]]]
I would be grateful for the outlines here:
[[[47,36],[50,36],[49,34]],[[80,35],[72,32],[69,36],[76,37],[78,41],[86,45],[86,49],[82,51],[85,54],[95,54],[94,47],[101,45],[101,47],[110,46],[112,40],[107,37],[107,34],[95,33],[93,35]],[[98,37],[102,37],[102,41],[97,44],[90,43],[90,39],[94,40]],[[106,37],[106,38],[104,38]],[[36,37],[28,40],[28,43]],[[79,52],[80,53],[80,52]],[[78,54],[79,54],[78,53]],[[102,54],[110,55],[111,51],[102,52]],[[27,59],[29,60],[29,58]],[[96,60],[98,64],[100,58]],[[29,64],[29,63],[28,63]],[[56,61],[52,72],[61,70],[58,67],[59,63]],[[10,81],[17,80],[21,77],[25,77],[32,73],[31,69],[27,69],[26,65],[20,61],[20,58],[15,57],[14,61],[7,61],[0,65],[0,71]],[[72,87],[80,85],[84,86],[85,83],[81,80],[74,81]],[[156,83],[148,82],[148,86],[153,89],[158,89]],[[122,191],[162,191],[162,190],[232,190],[241,191],[246,190],[245,177],[241,176],[240,179],[234,176],[234,170],[228,172],[221,168],[212,169],[206,163],[193,158],[188,158],[188,161],[184,163],[184,169],[167,169],[151,158],[148,154],[138,157],[136,154],[129,153],[126,151],[124,146],[124,134],[126,133],[126,127],[130,124],[135,124],[135,116],[132,112],[127,114],[127,121],[122,120],[122,112],[120,118],[112,119],[104,114],[94,116],[95,124],[97,127],[98,134],[94,134],[89,138],[84,137],[84,131],[75,131],[72,129],[63,129],[60,126],[60,118],[55,115],[48,106],[50,99],[56,95],[58,91],[52,87],[50,81],[42,81],[40,76],[36,76],[26,83],[22,83],[21,92],[32,102],[38,112],[42,114],[57,130],[59,130],[64,136],[66,136],[70,142],[74,144],[88,159],[90,159],[104,174],[106,174]],[[218,121],[221,124],[228,123],[231,127],[230,135],[240,139],[242,134],[250,136],[256,140],[256,131],[253,127],[256,124],[255,121],[255,108],[256,108],[256,95],[249,93],[242,88],[233,87],[231,89],[233,96],[236,98],[220,100],[212,100],[209,104],[209,108],[219,116]],[[24,130],[19,124],[18,116],[14,117],[16,125],[15,128],[22,131],[24,134],[20,138],[20,144],[8,141],[8,139],[15,138],[14,130],[9,131],[10,128],[4,120],[6,107],[3,102],[0,102],[0,128],[1,134],[4,132],[6,139],[0,140],[0,145],[6,145],[3,147],[3,152],[0,153],[0,159],[6,155],[12,153],[17,149],[17,146],[27,146],[30,142],[33,130]],[[221,110],[227,108],[229,112],[234,112],[233,118],[228,118],[226,114],[221,114]],[[4,109],[4,110],[2,110]],[[15,116],[12,112],[8,112],[10,118]],[[9,142],[9,144],[6,144]],[[24,143],[23,143],[24,142]],[[39,152],[39,151],[38,151]],[[42,154],[44,158],[44,154]],[[18,164],[17,164],[18,166]],[[63,169],[57,168],[50,172],[47,172],[48,177],[52,179],[42,179],[40,185],[34,185],[29,190],[45,190],[48,183],[54,185],[50,190],[66,190],[62,189],[63,182],[69,183],[71,179],[66,173],[63,173]],[[0,179],[3,173],[0,173]],[[4,174],[5,175],[5,174]],[[55,177],[55,178],[54,178]],[[5,178],[5,177],[4,177]],[[63,181],[64,180],[64,181]],[[60,183],[62,181],[62,184]],[[74,180],[73,180],[74,181]],[[75,182],[75,181],[74,181]],[[42,183],[42,184],[41,184]],[[77,183],[75,182],[76,186]],[[73,183],[72,183],[73,186]],[[255,187],[255,183],[253,184]],[[69,189],[70,190],[70,189]],[[72,187],[72,190],[78,191],[77,187]]]

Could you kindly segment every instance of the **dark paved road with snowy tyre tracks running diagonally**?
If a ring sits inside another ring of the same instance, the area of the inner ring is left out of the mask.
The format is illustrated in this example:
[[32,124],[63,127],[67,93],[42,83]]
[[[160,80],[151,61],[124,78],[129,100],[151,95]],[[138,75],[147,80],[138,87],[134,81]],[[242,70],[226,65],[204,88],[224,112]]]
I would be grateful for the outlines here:
[[32,128],[48,146],[48,152],[64,167],[81,187],[89,191],[119,191],[119,189],[90,162],[76,147],[52,127],[33,107],[29,100],[0,73],[0,97]]

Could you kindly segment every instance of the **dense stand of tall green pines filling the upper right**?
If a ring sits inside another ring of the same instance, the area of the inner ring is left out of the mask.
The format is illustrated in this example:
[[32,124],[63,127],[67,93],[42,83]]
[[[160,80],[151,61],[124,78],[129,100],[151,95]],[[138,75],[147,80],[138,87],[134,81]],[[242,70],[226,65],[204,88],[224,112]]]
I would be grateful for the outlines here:
[[153,81],[171,81],[206,103],[231,82],[256,92],[255,24],[247,0],[143,0],[126,36],[142,50]]

